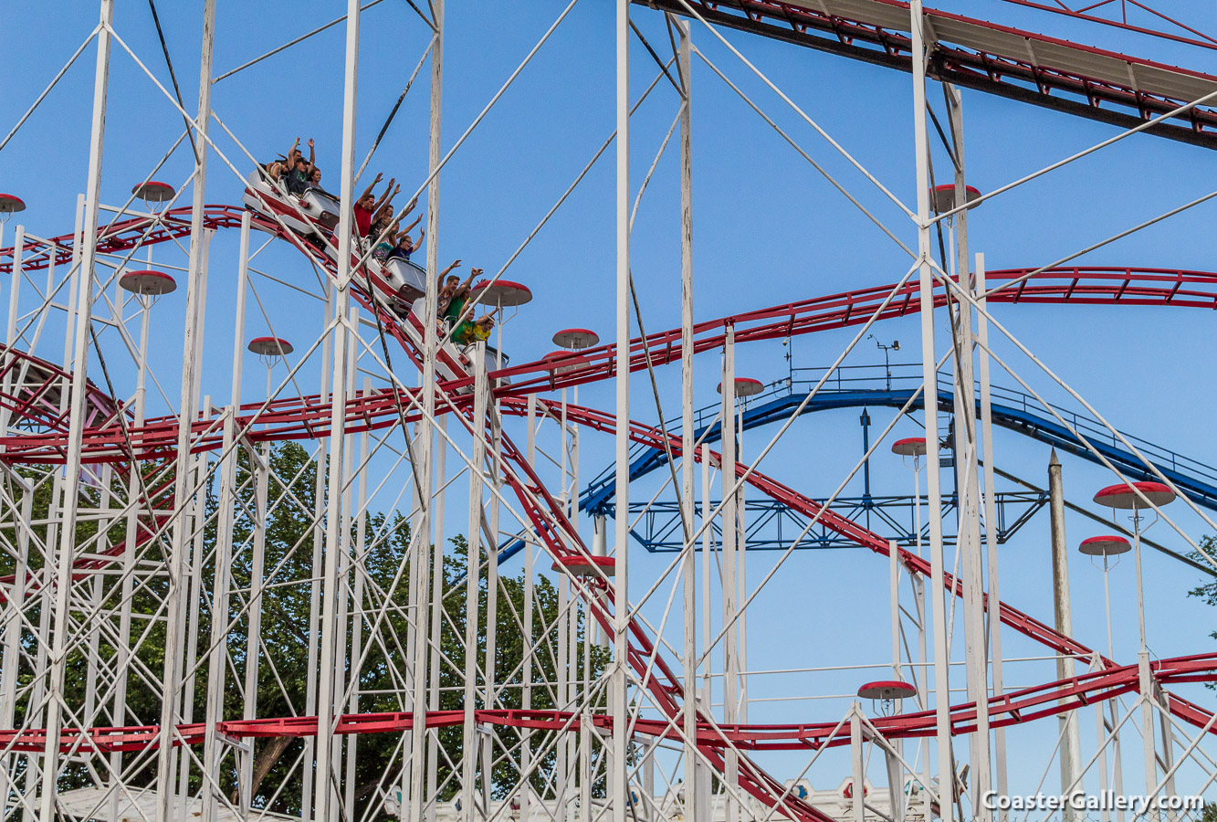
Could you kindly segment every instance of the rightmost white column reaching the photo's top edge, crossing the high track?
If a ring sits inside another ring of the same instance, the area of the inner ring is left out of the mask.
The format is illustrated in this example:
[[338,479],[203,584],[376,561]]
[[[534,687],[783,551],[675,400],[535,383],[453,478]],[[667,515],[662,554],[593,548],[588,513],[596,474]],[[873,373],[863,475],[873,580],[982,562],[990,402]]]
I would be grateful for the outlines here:
[[930,507],[930,599],[933,611],[933,688],[942,822],[954,816],[955,772],[950,753],[950,688],[942,560],[942,477],[938,462],[938,375],[933,343],[933,278],[930,270],[930,140],[926,129],[925,40],[921,0],[910,0],[913,33],[913,135],[916,153],[916,224],[921,300],[921,378],[925,381],[926,493]]

